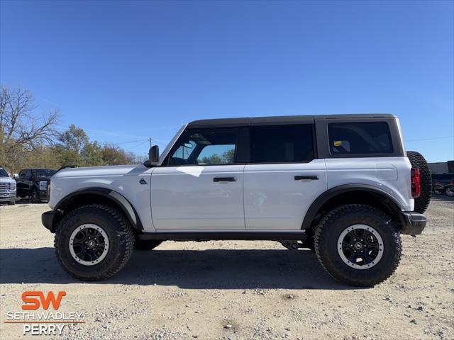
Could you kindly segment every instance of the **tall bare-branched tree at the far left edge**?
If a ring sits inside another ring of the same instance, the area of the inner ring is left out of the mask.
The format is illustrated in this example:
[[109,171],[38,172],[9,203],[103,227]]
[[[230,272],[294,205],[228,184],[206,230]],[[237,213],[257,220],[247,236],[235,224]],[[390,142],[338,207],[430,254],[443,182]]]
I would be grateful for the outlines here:
[[0,163],[17,170],[26,151],[51,144],[57,136],[58,110],[36,113],[32,94],[24,89],[0,87]]

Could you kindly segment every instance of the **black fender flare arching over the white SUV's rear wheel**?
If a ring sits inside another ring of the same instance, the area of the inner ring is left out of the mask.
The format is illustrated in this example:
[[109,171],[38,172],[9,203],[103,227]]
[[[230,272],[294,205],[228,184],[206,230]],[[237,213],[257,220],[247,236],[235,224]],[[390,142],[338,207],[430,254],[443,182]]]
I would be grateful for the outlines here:
[[401,224],[397,214],[400,205],[389,193],[367,184],[347,184],[331,188],[316,198],[306,212],[301,229],[314,232],[327,212],[347,204],[370,205],[389,215],[397,225]]

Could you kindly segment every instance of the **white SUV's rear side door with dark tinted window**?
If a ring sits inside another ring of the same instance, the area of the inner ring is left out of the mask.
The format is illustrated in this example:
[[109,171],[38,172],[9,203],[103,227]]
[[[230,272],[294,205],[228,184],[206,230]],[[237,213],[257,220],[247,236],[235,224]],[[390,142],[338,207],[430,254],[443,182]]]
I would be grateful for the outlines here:
[[314,140],[314,123],[250,127],[246,229],[301,229],[309,206],[326,191],[325,162],[315,159]]

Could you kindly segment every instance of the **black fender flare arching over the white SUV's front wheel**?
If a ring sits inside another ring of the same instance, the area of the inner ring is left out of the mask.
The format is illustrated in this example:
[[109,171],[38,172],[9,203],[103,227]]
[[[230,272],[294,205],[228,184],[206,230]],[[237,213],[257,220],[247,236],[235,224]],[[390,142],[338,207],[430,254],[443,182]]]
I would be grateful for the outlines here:
[[[127,198],[121,195],[121,193],[108,188],[94,187],[74,191],[60,200],[60,202],[55,206],[55,210],[60,210],[60,212],[62,212],[62,217],[64,217],[68,212],[89,204],[103,204],[116,208],[117,210],[123,212],[134,229],[143,230],[142,222],[140,222],[140,217],[135,211],[133,205]],[[60,222],[60,220],[57,222]],[[56,225],[54,228],[55,227]]]

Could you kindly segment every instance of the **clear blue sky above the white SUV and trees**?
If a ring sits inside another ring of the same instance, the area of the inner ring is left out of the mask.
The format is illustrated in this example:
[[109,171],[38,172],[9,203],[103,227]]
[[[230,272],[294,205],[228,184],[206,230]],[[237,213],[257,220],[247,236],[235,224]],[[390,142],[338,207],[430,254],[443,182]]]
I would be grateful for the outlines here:
[[454,159],[454,1],[5,1],[0,82],[137,154],[203,118],[393,113]]

